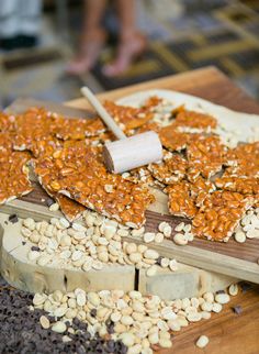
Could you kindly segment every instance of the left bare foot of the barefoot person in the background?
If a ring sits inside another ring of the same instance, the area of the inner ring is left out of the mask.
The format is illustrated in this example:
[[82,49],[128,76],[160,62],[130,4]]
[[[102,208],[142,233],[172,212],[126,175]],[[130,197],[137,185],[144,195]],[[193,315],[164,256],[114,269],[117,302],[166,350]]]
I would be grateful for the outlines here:
[[105,40],[106,34],[103,30],[88,33],[85,38],[82,38],[79,54],[69,63],[67,73],[80,75],[90,70],[97,63]]

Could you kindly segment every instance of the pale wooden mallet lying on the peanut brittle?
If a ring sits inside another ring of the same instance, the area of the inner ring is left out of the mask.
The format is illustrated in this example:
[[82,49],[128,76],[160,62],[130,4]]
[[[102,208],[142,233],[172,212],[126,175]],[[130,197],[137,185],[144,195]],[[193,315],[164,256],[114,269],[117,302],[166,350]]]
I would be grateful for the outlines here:
[[157,133],[149,131],[127,137],[88,87],[82,87],[81,92],[119,139],[105,143],[103,147],[104,163],[110,172],[121,174],[162,158],[162,147]]

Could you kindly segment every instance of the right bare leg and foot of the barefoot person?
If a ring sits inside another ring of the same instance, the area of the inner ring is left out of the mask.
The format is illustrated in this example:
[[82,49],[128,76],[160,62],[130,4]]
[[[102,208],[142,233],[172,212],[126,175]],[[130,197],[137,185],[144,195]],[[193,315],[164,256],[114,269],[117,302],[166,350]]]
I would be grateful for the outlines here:
[[136,30],[135,0],[116,0],[120,18],[120,41],[115,60],[105,65],[103,73],[115,76],[125,71],[146,48],[146,38]]

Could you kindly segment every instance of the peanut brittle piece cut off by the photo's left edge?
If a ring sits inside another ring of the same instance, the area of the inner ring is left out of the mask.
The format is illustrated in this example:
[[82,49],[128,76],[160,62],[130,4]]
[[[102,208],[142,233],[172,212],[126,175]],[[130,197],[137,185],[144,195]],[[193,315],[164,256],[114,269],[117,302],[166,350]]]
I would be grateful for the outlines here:
[[33,190],[29,180],[27,162],[31,155],[5,150],[0,154],[0,204],[25,196]]

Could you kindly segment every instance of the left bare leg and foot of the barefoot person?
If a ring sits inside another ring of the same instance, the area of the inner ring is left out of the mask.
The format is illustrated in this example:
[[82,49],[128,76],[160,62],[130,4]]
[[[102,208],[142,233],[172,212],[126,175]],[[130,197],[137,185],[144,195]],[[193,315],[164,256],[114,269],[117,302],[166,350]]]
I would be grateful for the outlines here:
[[78,56],[69,64],[67,69],[70,74],[82,74],[95,64],[106,37],[101,26],[105,7],[106,0],[85,0],[81,45]]

